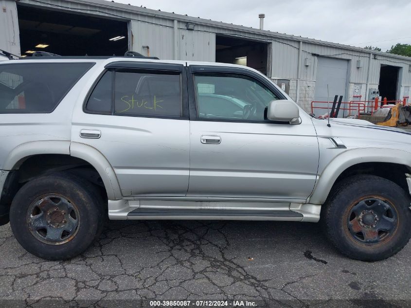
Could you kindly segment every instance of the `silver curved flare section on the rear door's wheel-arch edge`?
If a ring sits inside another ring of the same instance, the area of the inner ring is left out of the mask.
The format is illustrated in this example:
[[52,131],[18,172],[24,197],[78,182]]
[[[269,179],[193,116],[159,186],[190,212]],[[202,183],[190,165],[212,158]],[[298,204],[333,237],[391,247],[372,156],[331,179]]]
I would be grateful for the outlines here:
[[106,187],[109,200],[122,199],[116,173],[107,158],[99,150],[90,145],[71,142],[70,155],[85,160],[97,170]]

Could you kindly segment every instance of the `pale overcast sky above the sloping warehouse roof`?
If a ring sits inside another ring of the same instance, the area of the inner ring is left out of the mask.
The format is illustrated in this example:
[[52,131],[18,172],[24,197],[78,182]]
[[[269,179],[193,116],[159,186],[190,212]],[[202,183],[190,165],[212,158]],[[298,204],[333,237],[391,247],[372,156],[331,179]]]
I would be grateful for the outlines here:
[[411,0],[115,0],[176,14],[387,51],[411,44]]

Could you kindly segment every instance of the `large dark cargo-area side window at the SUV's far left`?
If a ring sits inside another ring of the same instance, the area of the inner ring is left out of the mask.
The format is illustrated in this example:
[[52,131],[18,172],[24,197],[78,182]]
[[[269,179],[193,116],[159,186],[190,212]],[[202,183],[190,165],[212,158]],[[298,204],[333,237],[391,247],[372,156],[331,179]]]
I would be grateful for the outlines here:
[[52,112],[93,63],[0,65],[0,113]]

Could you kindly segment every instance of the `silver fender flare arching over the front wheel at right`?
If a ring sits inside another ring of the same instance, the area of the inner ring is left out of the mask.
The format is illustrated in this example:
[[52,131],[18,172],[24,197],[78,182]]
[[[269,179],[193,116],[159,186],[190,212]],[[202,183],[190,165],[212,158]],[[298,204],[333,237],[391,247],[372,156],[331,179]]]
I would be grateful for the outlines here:
[[[316,181],[308,203],[323,204],[328,197],[335,181],[347,168],[358,163],[398,163],[411,168],[409,152],[388,148],[355,148],[336,156],[322,171]],[[404,174],[405,177],[405,174]]]

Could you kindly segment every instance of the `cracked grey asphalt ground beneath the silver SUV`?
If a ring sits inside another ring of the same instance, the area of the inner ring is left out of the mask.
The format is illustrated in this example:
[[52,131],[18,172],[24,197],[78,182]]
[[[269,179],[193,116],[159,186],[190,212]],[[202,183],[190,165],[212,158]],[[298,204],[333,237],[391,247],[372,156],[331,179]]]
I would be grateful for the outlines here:
[[84,254],[55,262],[27,253],[5,225],[0,306],[260,299],[268,307],[411,307],[410,255],[409,244],[384,261],[351,260],[314,223],[155,220],[110,221]]

